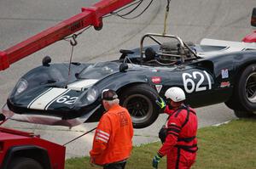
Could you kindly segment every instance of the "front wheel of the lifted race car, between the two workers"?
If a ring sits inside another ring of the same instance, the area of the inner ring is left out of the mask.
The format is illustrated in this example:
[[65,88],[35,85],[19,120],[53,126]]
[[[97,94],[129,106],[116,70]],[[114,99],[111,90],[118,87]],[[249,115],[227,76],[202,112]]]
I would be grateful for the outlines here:
[[147,84],[138,84],[126,87],[120,93],[120,104],[129,111],[133,127],[148,127],[157,119],[160,111],[155,100],[158,94],[152,87]]

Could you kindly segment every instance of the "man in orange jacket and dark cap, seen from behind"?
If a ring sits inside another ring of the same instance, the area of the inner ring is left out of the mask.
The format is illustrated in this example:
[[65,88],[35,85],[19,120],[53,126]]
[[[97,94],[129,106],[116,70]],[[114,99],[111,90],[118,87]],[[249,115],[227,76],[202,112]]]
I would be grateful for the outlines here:
[[124,169],[132,149],[131,115],[119,105],[118,95],[111,89],[102,91],[102,105],[106,112],[96,127],[90,164],[103,169]]

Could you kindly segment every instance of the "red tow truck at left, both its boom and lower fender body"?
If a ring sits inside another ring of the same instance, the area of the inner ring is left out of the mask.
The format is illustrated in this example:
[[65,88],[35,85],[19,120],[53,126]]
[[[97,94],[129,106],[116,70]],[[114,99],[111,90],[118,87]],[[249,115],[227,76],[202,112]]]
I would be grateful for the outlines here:
[[[0,51],[0,70],[73,34],[89,25],[102,28],[102,16],[125,6],[134,0],[102,0],[90,8],[82,8],[80,14],[26,39],[15,46]],[[4,121],[3,121],[4,122]],[[1,124],[0,123],[0,126]],[[0,127],[0,168],[64,169],[65,146],[51,143],[30,132],[20,132]],[[22,163],[20,164],[20,161]]]

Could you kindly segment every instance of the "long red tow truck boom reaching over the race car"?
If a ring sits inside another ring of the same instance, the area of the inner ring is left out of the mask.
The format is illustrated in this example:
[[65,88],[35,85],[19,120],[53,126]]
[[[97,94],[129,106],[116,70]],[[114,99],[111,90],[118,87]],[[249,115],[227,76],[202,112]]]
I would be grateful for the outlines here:
[[9,68],[9,65],[25,58],[29,54],[33,54],[89,25],[93,25],[96,30],[101,30],[102,16],[124,7],[126,4],[132,3],[133,1],[134,0],[102,0],[90,8],[82,8],[80,14],[76,14],[47,30],[41,31],[37,35],[11,48],[0,51],[0,70]]

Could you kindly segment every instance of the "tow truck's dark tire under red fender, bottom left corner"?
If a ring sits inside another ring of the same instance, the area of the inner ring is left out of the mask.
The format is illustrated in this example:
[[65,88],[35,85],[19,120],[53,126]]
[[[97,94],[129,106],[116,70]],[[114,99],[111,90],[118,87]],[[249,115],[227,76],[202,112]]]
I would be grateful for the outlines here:
[[8,169],[44,169],[38,161],[26,157],[17,157],[10,162]]

